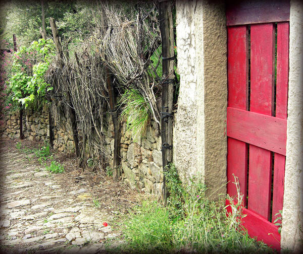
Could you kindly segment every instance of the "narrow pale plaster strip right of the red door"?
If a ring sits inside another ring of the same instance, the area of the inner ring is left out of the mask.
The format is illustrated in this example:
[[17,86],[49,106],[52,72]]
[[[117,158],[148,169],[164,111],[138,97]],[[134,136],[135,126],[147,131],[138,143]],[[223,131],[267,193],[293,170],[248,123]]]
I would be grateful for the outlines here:
[[303,230],[303,4],[290,1],[289,85],[281,247],[301,253]]

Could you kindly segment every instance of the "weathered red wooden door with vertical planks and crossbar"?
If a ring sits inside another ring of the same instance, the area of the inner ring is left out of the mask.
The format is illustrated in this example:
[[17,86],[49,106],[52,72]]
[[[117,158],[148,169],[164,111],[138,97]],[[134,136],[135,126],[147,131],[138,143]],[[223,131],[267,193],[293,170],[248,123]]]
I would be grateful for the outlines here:
[[242,225],[250,236],[280,249],[273,222],[283,208],[289,2],[258,3],[229,5],[226,12],[227,193],[236,197],[237,176],[247,215]]

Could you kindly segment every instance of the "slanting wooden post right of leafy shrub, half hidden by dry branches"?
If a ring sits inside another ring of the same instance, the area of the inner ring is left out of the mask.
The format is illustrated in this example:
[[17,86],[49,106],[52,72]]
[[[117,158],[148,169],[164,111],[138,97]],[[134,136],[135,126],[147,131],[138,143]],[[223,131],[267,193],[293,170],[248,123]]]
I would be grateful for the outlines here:
[[[52,33],[53,33],[53,37],[54,37],[54,42],[55,42],[55,46],[56,46],[56,52],[57,54],[59,54],[59,59],[60,59],[60,66],[61,68],[64,67],[64,62],[63,62],[63,50],[62,50],[62,46],[59,40],[59,36],[58,36],[58,30],[57,30],[57,26],[55,23],[55,20],[53,18],[49,19],[49,23],[51,24],[51,28],[52,28]],[[74,143],[75,143],[75,150],[76,150],[76,156],[79,158],[80,156],[80,150],[79,150],[79,139],[78,139],[78,130],[77,130],[77,118],[76,118],[76,111],[73,107],[73,103],[71,100],[71,95],[69,92],[66,93],[67,96],[67,101],[68,101],[68,115],[71,121],[71,125],[72,125],[72,130],[73,130],[73,138],[74,138]]]

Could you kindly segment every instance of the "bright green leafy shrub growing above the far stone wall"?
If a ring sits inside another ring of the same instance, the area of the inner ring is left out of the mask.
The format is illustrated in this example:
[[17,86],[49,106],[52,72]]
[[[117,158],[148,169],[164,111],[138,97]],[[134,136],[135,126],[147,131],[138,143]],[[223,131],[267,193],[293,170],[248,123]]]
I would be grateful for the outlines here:
[[54,53],[51,39],[39,39],[29,47],[21,46],[17,52],[5,53],[6,104],[16,108],[21,102],[25,107],[39,108],[46,103],[45,94],[53,87],[44,81],[44,75]]

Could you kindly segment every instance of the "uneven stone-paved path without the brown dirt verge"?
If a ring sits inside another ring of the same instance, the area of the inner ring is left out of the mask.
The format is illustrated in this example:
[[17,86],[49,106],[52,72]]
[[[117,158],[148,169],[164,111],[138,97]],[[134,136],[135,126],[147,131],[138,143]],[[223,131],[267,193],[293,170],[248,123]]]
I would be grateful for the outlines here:
[[16,149],[0,148],[0,156],[2,251],[99,253],[108,239],[122,243],[121,232],[103,225],[114,211],[96,208],[81,181],[67,190],[67,177],[30,165]]

